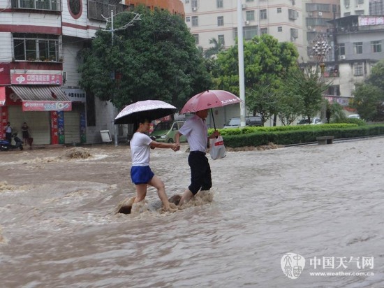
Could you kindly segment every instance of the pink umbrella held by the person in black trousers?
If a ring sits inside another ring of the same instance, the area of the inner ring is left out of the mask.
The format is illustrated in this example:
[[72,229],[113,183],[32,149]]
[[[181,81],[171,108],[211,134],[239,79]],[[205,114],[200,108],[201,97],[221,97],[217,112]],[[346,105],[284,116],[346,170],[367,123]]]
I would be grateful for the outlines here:
[[[180,114],[184,113],[195,113],[200,110],[206,110],[217,107],[223,107],[230,104],[240,103],[242,102],[242,99],[239,99],[239,97],[235,96],[235,94],[232,94],[225,90],[207,90],[205,92],[201,92],[199,94],[196,94],[193,96],[189,101],[186,102],[182,110],[180,111]],[[214,121],[214,115],[212,113],[212,120]],[[214,127],[216,129],[216,125],[214,124]]]

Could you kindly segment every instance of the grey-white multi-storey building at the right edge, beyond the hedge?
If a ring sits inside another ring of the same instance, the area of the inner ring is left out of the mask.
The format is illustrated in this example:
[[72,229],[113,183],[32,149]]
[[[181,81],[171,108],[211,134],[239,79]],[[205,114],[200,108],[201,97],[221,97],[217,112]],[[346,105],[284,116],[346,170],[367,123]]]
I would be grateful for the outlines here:
[[384,16],[351,15],[332,22],[336,59],[325,62],[325,76],[333,80],[326,96],[348,106],[355,83],[367,79],[372,66],[384,59]]

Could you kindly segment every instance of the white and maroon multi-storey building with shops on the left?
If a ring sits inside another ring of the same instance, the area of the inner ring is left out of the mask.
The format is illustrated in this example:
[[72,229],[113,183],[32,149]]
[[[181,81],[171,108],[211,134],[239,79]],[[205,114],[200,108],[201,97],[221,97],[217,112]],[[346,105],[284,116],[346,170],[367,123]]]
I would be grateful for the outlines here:
[[[99,143],[117,111],[83,91],[77,72],[105,17],[139,3],[184,15],[180,0],[0,0],[0,138],[27,122],[34,144]],[[122,133],[122,131],[120,130]]]

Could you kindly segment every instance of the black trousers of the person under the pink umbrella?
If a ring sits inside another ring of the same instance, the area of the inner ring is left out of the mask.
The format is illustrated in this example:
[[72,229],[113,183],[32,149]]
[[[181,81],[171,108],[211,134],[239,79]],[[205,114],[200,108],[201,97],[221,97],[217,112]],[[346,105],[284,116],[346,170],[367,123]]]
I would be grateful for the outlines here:
[[191,185],[188,189],[195,195],[202,190],[209,190],[212,187],[211,167],[205,152],[191,151],[188,157],[188,164],[191,167]]

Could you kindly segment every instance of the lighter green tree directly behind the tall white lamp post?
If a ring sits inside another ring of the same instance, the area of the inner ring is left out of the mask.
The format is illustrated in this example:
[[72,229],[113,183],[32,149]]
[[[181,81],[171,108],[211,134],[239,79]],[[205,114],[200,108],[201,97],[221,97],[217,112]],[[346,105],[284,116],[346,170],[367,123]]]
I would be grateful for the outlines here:
[[[239,94],[238,47],[219,53],[214,85],[217,89],[226,89]],[[244,81],[246,107],[259,113],[265,122],[276,113],[277,90],[281,79],[296,66],[298,53],[293,43],[279,43],[268,34],[255,36],[244,42]]]

